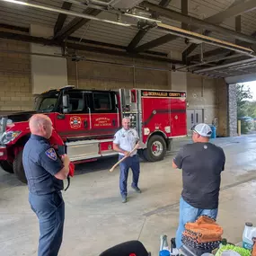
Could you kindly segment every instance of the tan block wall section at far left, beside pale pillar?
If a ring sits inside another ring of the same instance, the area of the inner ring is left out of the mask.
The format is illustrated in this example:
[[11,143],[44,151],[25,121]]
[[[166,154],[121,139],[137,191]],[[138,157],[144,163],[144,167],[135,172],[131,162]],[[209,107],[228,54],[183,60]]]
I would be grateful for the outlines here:
[[0,111],[32,110],[30,44],[0,39]]

